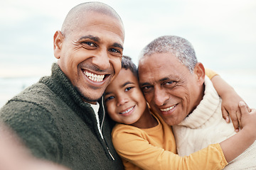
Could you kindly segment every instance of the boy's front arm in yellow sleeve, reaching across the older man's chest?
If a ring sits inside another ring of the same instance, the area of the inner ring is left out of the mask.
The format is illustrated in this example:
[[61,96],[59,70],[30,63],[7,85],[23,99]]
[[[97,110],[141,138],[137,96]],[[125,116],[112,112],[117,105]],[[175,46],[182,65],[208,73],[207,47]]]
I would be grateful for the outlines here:
[[146,132],[129,125],[125,125],[125,128],[115,128],[112,140],[122,158],[142,169],[223,169],[256,140],[256,111],[248,113],[245,106],[241,106],[241,111],[244,128],[240,132],[220,144],[209,145],[188,157],[174,154],[174,139],[173,148],[169,148],[172,151],[170,152],[159,147],[161,145],[156,147],[149,142],[150,136]]

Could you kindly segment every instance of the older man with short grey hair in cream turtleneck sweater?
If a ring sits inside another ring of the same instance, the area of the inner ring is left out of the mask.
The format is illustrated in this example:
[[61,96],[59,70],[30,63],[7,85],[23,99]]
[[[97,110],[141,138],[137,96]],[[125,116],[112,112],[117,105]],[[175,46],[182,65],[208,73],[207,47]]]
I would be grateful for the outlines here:
[[[180,156],[235,134],[232,123],[223,119],[220,96],[184,38],[163,36],[144,47],[139,84],[151,108],[173,125]],[[256,142],[225,169],[256,169],[255,155]]]

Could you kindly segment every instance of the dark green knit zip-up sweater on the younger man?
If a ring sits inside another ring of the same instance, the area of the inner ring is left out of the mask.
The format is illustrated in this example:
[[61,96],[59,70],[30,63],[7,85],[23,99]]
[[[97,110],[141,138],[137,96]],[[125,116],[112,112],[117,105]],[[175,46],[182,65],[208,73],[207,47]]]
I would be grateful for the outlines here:
[[58,64],[53,64],[52,75],[8,101],[0,118],[36,157],[74,170],[123,169],[111,142],[111,120],[99,103],[104,140],[93,109],[82,101]]

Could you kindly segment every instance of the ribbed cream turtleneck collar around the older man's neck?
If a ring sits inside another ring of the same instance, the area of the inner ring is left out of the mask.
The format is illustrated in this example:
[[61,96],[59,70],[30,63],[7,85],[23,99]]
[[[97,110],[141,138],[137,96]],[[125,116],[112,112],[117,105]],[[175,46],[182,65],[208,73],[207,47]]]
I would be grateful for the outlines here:
[[183,125],[188,128],[198,128],[206,123],[217,110],[221,99],[208,77],[206,77],[204,84],[205,92],[203,100],[196,109],[178,125]]

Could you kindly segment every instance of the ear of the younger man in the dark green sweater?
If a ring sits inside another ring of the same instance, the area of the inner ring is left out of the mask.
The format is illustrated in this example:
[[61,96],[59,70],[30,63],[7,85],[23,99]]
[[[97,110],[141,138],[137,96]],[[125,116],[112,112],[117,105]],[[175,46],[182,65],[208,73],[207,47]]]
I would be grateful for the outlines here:
[[60,30],[57,30],[56,33],[53,36],[53,50],[54,50],[54,56],[56,59],[60,58],[60,51],[61,47],[63,45],[63,34]]

